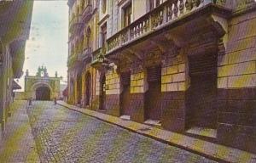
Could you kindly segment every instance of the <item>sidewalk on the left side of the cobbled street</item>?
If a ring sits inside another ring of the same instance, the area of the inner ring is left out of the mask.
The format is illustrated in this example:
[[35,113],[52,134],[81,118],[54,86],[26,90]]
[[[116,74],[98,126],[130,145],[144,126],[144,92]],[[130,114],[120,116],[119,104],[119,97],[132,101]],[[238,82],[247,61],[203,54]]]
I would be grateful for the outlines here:
[[6,130],[0,138],[0,162],[40,162],[32,128],[26,115],[26,101],[11,104],[11,113]]

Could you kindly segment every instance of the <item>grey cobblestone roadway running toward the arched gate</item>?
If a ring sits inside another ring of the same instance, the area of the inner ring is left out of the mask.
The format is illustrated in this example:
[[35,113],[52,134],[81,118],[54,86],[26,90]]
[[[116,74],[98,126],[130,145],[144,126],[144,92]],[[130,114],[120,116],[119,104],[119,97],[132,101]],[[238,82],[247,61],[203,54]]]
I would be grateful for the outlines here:
[[42,162],[213,162],[52,102],[27,113]]

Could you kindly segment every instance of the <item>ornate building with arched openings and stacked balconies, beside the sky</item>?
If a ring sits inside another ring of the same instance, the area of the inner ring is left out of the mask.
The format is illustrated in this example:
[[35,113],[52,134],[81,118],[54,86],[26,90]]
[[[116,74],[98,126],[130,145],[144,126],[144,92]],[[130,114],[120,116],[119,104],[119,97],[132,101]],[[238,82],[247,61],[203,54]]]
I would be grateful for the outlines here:
[[[68,102],[89,106],[96,98],[96,69],[90,66],[97,42],[97,1],[69,1]],[[86,80],[85,80],[86,78]],[[86,83],[85,83],[86,82]]]

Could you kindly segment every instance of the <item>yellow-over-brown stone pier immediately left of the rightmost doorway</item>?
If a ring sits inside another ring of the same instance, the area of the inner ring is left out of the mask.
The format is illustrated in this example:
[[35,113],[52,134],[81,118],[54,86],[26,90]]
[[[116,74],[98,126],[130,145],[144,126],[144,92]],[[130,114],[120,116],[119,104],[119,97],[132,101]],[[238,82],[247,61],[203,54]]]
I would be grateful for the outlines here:
[[162,126],[175,132],[185,128],[186,74],[183,55],[169,57],[161,70]]

